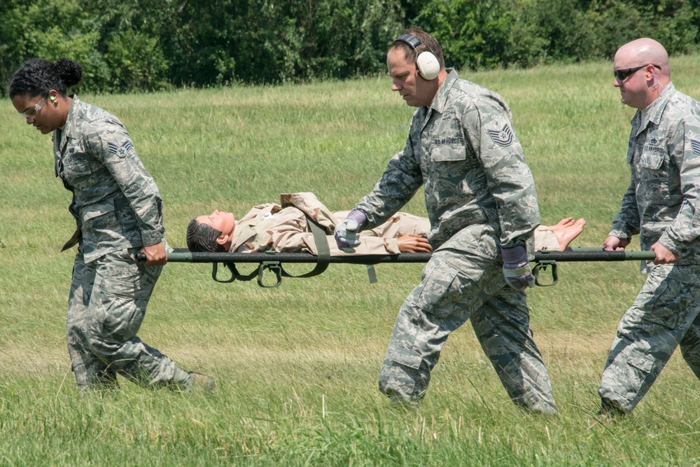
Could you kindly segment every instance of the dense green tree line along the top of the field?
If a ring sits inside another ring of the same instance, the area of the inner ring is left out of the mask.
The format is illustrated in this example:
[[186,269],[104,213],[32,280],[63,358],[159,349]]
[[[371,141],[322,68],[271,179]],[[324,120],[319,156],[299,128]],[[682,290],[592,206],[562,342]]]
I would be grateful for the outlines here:
[[698,50],[700,0],[1,0],[0,92],[35,57],[105,93],[378,74],[412,25],[457,69],[611,59],[643,36],[673,55]]

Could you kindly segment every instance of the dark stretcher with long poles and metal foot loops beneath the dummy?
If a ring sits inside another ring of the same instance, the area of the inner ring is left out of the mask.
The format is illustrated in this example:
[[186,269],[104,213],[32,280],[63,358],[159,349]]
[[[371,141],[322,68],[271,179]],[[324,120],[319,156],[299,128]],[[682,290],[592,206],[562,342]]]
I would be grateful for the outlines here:
[[[570,261],[628,261],[628,260],[653,260],[656,256],[653,251],[605,251],[601,248],[575,247],[566,251],[539,250],[535,251],[535,267],[533,274],[535,284],[538,286],[554,286],[559,277],[557,263]],[[143,253],[139,253],[138,260],[146,260]],[[398,255],[356,255],[356,256],[328,256],[312,255],[311,253],[278,253],[267,251],[265,253],[195,253],[188,249],[174,249],[168,253],[168,263],[212,263],[211,278],[221,283],[229,283],[235,280],[250,281],[258,279],[260,287],[276,287],[282,282],[283,277],[312,277],[325,271],[330,263],[366,265],[370,274],[370,281],[374,275],[372,267],[379,263],[427,263],[430,253],[401,253]],[[237,263],[258,263],[258,267],[249,274],[241,274]],[[283,263],[315,263],[314,270],[305,274],[293,276],[288,274]],[[228,268],[230,277],[219,278],[218,265]],[[552,280],[544,283],[540,281],[543,271],[551,270]],[[265,284],[263,277],[265,271],[274,274],[276,282]]]

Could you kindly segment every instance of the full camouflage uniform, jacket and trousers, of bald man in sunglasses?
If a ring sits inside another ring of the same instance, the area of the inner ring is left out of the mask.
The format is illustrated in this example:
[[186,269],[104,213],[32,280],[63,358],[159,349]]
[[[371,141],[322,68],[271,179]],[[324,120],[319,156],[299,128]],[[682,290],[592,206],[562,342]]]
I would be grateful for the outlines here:
[[631,120],[631,183],[610,235],[640,235],[680,256],[672,265],[643,265],[649,276],[619,322],[598,394],[631,412],[680,344],[700,377],[700,104],[669,83]]

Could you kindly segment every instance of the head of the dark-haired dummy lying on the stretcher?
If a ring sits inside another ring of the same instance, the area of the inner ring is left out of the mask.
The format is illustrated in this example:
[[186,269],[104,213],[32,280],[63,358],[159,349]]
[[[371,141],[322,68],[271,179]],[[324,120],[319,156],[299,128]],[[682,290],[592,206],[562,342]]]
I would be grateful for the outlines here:
[[228,251],[235,228],[230,212],[216,210],[209,216],[195,217],[187,225],[187,247],[190,251]]

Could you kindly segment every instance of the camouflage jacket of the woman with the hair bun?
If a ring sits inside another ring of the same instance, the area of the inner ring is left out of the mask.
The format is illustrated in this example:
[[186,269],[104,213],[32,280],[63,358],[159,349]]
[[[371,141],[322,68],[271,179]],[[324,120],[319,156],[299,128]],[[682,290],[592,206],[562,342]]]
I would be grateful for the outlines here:
[[69,211],[85,263],[120,249],[161,242],[162,200],[124,125],[110,113],[73,103],[63,130],[53,134],[56,176],[73,193]]

